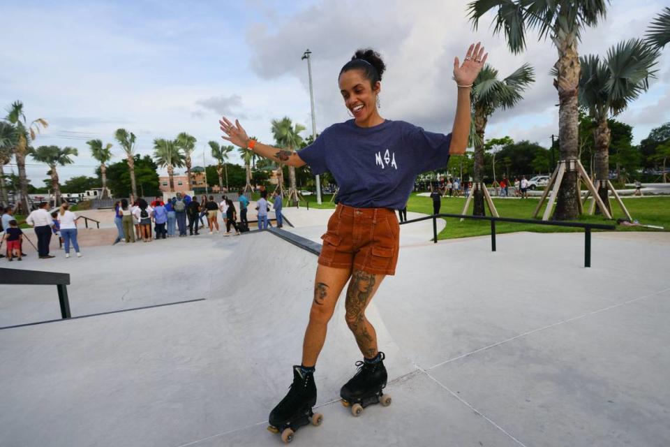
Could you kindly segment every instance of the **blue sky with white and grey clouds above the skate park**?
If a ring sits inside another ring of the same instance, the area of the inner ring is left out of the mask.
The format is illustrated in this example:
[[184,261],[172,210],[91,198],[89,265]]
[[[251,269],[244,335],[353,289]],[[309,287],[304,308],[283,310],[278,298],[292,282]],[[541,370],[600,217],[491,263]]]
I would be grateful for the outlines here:
[[[581,54],[606,54],[640,37],[665,0],[613,0],[606,20],[583,33]],[[513,110],[497,112],[486,137],[509,135],[549,145],[558,133],[556,90],[549,70],[556,50],[528,37],[511,54],[490,20],[472,29],[461,0],[41,1],[0,0],[0,105],[24,102],[29,120],[50,126],[36,145],[72,146],[80,156],[59,168],[61,179],[94,175],[86,141],[116,143],[120,127],[151,154],[154,138],[186,131],[198,138],[195,163],[213,163],[207,141],[223,142],[218,117],[239,117],[251,135],[271,142],[271,119],[288,116],[311,133],[308,74],[312,51],[316,127],[348,119],[339,69],[359,47],[378,50],[387,64],[382,116],[448,132],[454,117],[454,56],[482,41],[504,77],[524,62],[537,81]],[[668,51],[666,50],[666,53]],[[670,57],[664,54],[647,94],[618,119],[634,126],[635,142],[670,121]],[[121,149],[114,145],[114,159]],[[232,161],[239,161],[236,155]],[[11,168],[11,166],[10,166]],[[45,166],[31,162],[36,186]]]

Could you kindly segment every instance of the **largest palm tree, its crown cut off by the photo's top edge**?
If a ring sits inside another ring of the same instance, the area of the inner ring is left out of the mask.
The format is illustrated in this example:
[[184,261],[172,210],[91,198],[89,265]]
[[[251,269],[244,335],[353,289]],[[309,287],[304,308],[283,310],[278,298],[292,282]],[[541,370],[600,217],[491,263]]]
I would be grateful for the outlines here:
[[[558,50],[556,78],[558,90],[558,133],[563,161],[577,161],[579,145],[578,44],[581,31],[593,27],[605,17],[608,0],[475,0],[468,4],[470,20],[477,28],[479,19],[496,9],[493,32],[505,33],[507,46],[514,53],[526,48],[526,28],[538,29],[540,38],[551,38]],[[567,170],[560,185],[554,218],[576,219],[579,216],[577,172]]]

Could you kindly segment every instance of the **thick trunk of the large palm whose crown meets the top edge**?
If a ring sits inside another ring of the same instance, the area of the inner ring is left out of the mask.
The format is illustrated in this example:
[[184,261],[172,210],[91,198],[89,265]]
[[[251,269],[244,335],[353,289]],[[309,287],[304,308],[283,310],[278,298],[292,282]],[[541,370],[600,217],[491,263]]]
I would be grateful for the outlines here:
[[[579,112],[577,103],[577,88],[579,86],[579,54],[577,53],[577,40],[574,34],[565,35],[558,31],[560,38],[555,38],[554,43],[558,48],[558,61],[556,69],[558,78],[553,84],[558,89],[558,143],[560,147],[560,159],[567,161],[568,166],[576,163],[577,149],[579,145]],[[577,171],[565,170],[563,182],[558,191],[556,201],[556,212],[553,217],[556,220],[570,220],[579,217],[577,204],[579,194],[577,191]]]

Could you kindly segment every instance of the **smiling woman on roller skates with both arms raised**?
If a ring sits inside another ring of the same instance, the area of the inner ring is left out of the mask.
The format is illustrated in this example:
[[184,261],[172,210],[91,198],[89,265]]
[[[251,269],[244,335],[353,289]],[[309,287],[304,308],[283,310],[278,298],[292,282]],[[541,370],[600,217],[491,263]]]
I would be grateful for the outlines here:
[[[357,374],[340,390],[344,400],[359,404],[378,398],[386,386],[385,355],[365,317],[365,309],[387,274],[394,274],[400,227],[394,210],[407,203],[419,173],[445,168],[450,154],[466,151],[470,131],[472,82],[486,61],[479,43],[470,45],[461,65],[454,58],[456,117],[452,133],[430,133],[406,122],[392,122],[379,113],[385,64],[373,50],[359,50],[338,77],[344,105],[353,119],[322,131],[312,145],[290,152],[248,138],[244,128],[223,117],[223,138],[260,156],[289,166],[310,166],[313,174],[329,170],[340,187],[336,210],[328,222],[315,278],[314,299],[305,332],[302,364],[293,368],[288,395],[271,411],[269,422],[285,427],[296,414],[309,414],[316,402],[314,366],[325,342],[327,323],[337,299],[346,293],[346,316],[363,354]],[[358,237],[353,240],[354,230]]]

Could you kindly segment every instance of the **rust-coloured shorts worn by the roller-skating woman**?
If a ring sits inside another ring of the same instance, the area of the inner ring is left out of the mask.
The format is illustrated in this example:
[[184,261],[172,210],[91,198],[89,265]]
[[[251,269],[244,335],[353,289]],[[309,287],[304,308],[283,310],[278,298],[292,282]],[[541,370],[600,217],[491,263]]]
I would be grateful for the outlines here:
[[321,265],[372,274],[396,273],[400,224],[394,210],[339,203],[321,239]]

